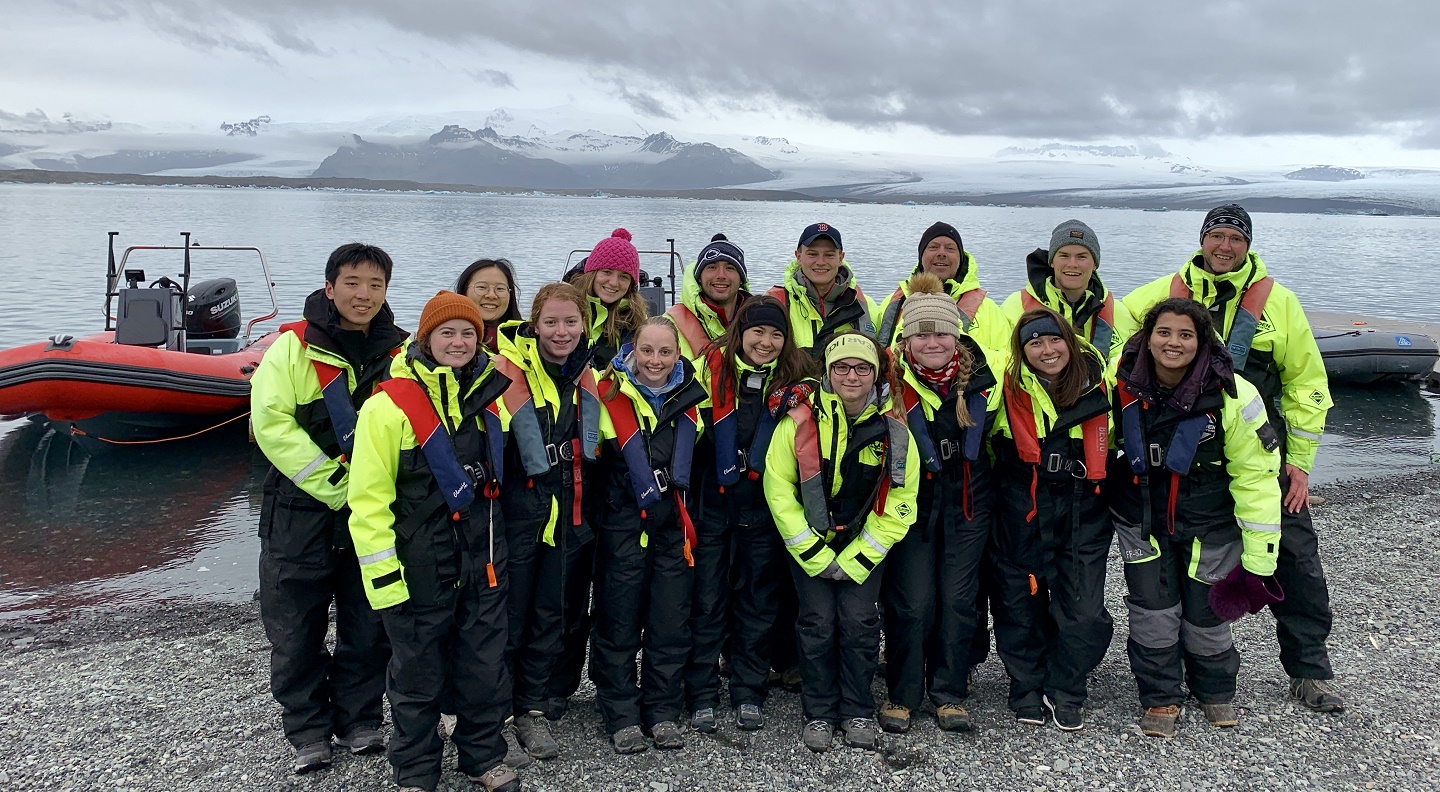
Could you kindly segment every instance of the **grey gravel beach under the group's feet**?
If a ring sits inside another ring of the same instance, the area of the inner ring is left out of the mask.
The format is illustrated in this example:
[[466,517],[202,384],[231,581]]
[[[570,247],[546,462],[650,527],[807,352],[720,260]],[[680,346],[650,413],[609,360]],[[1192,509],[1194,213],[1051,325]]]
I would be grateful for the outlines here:
[[[1333,484],[1315,508],[1335,608],[1331,657],[1342,714],[1292,704],[1269,613],[1236,625],[1238,729],[1187,706],[1175,740],[1142,737],[1125,657],[1123,576],[1110,567],[1116,636],[1092,677],[1079,733],[1015,723],[991,655],[971,711],[978,732],[917,717],[884,755],[798,740],[799,697],[772,696],[769,727],[690,734],[684,750],[616,756],[593,691],[557,726],[562,756],[521,770],[526,789],[1436,789],[1440,726],[1440,471]],[[383,756],[338,753],[288,772],[292,750],[271,700],[259,609],[154,605],[0,624],[0,791],[393,789]],[[881,696],[877,685],[876,694]],[[1434,697],[1434,698],[1433,698]],[[723,714],[729,714],[724,711]],[[441,789],[471,789],[446,759]]]

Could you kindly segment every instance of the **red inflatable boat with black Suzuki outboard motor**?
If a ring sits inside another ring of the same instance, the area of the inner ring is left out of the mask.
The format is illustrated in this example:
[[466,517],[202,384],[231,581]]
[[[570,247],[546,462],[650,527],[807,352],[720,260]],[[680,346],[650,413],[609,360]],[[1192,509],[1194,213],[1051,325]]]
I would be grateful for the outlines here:
[[[259,248],[131,246],[115,264],[111,233],[105,289],[105,330],[88,338],[53,336],[0,353],[0,416],[40,415],[72,426],[75,435],[109,442],[145,442],[203,432],[249,410],[251,374],[275,331],[251,340],[252,318],[240,333],[235,281],[190,285],[193,251],[248,251],[269,266]],[[135,251],[184,251],[181,282],[158,278],[143,287],[141,269],[125,269]],[[125,288],[117,288],[124,275]],[[118,310],[111,314],[112,305]]]

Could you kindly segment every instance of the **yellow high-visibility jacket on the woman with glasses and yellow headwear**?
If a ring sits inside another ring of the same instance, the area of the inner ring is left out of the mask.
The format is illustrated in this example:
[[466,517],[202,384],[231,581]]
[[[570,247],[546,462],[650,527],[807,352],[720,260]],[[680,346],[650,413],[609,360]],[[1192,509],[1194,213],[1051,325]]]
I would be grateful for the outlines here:
[[863,583],[914,524],[920,458],[888,393],[851,420],[819,390],[780,418],[763,481],[801,569],[814,577],[835,562]]

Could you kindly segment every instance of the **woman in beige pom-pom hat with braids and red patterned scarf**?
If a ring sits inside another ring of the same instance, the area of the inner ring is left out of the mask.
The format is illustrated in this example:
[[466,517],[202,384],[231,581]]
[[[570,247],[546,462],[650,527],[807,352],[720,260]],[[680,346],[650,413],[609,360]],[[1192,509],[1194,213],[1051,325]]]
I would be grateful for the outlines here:
[[[999,389],[985,348],[960,328],[955,300],[927,272],[906,282],[900,405],[924,472],[916,521],[886,560],[886,688],[880,727],[910,730],[929,688],[946,732],[968,732],[971,644],[979,628],[981,557],[995,521],[995,485],[982,439]],[[986,625],[988,629],[988,625]]]

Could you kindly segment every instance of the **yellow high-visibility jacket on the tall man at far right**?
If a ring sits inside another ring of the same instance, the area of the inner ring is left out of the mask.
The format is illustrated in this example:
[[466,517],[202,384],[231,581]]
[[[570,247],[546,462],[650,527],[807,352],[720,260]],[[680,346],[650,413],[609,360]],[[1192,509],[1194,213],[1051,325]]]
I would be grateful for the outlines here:
[[[1208,272],[1204,261],[1200,253],[1187,261],[1179,268],[1178,285],[1189,292],[1191,300],[1210,308],[1221,337],[1230,344],[1237,318],[1244,315],[1241,302],[1246,292],[1269,275],[1253,251],[1244,264],[1223,275]],[[1136,321],[1143,321],[1156,302],[1176,291],[1175,287],[1176,275],[1165,275],[1132,291],[1123,302]],[[1325,433],[1325,415],[1335,405],[1320,348],[1299,298],[1277,282],[1272,281],[1264,307],[1254,318],[1254,336],[1248,350],[1244,350],[1244,364],[1236,370],[1264,399],[1270,423],[1284,441],[1284,462],[1309,472]],[[1246,324],[1240,323],[1241,327]],[[1233,348],[1231,354],[1238,360],[1237,351],[1241,350]]]

